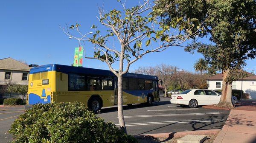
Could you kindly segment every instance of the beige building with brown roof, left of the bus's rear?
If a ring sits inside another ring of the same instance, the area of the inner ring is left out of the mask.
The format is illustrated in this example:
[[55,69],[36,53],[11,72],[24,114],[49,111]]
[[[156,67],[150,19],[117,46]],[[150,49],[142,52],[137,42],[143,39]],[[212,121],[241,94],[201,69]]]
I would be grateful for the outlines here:
[[28,84],[30,67],[12,58],[0,59],[0,85]]

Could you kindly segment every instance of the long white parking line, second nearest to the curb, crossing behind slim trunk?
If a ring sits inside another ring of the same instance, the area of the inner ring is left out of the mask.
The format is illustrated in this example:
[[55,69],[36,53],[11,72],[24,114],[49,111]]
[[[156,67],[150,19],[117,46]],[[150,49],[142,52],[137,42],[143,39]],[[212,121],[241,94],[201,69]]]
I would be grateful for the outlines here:
[[212,114],[222,114],[222,112],[187,113],[187,114],[159,114],[159,115],[133,115],[133,116],[124,116],[124,118],[161,117],[161,116],[188,116],[188,115],[212,115]]

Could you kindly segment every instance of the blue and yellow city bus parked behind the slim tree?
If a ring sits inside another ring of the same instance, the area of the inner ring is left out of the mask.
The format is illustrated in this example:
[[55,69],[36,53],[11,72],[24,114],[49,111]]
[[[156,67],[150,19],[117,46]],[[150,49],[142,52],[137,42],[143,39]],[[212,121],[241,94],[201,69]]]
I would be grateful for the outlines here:
[[[160,101],[157,76],[126,73],[123,104]],[[29,72],[27,104],[84,103],[93,111],[117,104],[117,77],[109,70],[47,64]]]

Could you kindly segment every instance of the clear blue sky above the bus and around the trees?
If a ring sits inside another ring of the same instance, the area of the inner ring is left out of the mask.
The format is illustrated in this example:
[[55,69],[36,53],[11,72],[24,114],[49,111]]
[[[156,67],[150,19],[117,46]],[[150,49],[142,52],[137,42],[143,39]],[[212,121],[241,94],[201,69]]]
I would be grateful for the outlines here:
[[[109,11],[121,8],[116,0],[16,0],[2,1],[0,5],[0,59],[12,57],[26,61],[28,64],[65,64],[73,63],[74,48],[78,42],[68,39],[58,24],[81,24],[84,33],[92,31],[91,25],[106,30],[96,19],[98,6]],[[137,5],[137,0],[128,6]],[[207,39],[201,39],[208,42]],[[93,53],[91,45],[85,47],[86,54]],[[163,52],[149,53],[143,59],[131,65],[130,71],[140,66],[154,66],[165,63],[194,71],[193,64],[202,55],[186,53],[183,48],[171,47]],[[256,71],[256,60],[247,61],[244,68]],[[108,69],[104,62],[84,59],[84,67]]]

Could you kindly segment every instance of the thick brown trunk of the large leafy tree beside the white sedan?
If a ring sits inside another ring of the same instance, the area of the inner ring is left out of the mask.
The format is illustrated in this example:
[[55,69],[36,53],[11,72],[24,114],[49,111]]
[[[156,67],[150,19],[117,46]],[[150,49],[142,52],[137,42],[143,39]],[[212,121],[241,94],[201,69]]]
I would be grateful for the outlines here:
[[232,104],[232,84],[229,84],[226,81],[226,78],[229,74],[230,70],[223,71],[222,77],[222,95],[220,102],[216,105],[217,107],[225,107],[225,108],[234,108]]

